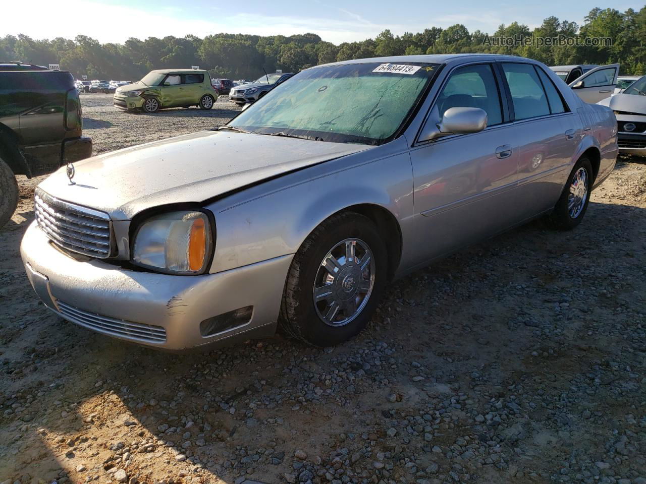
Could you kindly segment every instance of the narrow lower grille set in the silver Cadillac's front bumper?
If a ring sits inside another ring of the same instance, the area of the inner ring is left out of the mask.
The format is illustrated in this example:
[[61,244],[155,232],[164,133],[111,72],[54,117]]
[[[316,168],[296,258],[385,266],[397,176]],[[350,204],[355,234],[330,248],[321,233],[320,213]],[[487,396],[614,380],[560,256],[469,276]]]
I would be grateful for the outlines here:
[[133,323],[132,321],[124,321],[123,319],[101,316],[101,314],[70,306],[60,299],[56,300],[56,306],[63,318],[79,326],[98,331],[99,333],[145,343],[166,342],[166,330],[161,326],[145,325],[143,323]]

